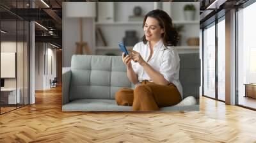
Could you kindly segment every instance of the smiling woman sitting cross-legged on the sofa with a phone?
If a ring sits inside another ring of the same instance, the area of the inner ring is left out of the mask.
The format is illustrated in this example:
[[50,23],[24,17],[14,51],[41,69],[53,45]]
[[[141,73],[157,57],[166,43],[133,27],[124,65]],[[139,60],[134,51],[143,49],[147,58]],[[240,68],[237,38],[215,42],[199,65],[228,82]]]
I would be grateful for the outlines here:
[[132,105],[134,111],[159,110],[182,100],[179,54],[170,47],[177,45],[179,36],[162,10],[147,13],[143,29],[143,41],[134,45],[129,55],[122,55],[127,77],[136,87],[120,89],[115,100],[118,105]]

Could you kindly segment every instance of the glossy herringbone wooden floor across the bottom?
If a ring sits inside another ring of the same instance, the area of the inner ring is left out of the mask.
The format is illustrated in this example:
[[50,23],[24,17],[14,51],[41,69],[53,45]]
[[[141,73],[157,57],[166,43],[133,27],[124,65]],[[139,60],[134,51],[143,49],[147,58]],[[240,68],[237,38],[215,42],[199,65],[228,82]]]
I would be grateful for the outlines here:
[[256,112],[200,98],[200,111],[62,112],[61,88],[0,116],[0,142],[256,142]]

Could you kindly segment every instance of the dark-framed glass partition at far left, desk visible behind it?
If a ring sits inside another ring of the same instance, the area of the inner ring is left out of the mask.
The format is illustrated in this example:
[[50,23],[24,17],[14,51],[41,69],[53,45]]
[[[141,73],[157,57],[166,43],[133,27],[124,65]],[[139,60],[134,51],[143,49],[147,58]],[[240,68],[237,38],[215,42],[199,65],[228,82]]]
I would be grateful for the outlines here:
[[[12,1],[13,9],[24,8],[26,3]],[[4,73],[1,74],[0,114],[3,114],[29,103],[29,22],[0,8],[0,29],[0,71]],[[6,66],[10,66],[9,70]]]

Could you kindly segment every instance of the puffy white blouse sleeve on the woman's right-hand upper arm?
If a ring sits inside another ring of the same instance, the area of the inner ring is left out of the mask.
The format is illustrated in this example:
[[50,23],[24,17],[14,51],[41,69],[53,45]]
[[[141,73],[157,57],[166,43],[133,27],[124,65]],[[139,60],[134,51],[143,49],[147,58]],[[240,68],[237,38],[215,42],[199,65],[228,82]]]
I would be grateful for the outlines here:
[[160,64],[159,72],[168,82],[179,79],[180,58],[179,54],[173,50],[168,49],[164,51],[163,61]]

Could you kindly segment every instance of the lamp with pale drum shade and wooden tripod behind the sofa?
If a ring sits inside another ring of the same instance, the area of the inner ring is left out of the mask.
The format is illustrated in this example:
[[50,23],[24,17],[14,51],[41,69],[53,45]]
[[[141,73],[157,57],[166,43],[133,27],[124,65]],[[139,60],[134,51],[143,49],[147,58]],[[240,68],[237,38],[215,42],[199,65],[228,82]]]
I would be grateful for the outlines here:
[[96,17],[95,2],[66,2],[66,16],[77,17],[79,19],[80,41],[76,42],[76,54],[92,54],[88,43],[83,41],[83,18]]

